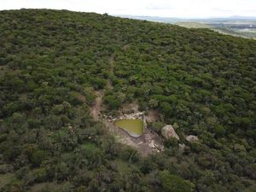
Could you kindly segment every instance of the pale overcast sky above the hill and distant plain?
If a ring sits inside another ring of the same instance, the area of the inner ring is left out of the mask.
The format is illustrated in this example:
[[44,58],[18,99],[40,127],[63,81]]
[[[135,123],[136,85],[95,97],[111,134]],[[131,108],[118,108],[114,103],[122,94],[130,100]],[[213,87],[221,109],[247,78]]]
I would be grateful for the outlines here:
[[256,16],[256,0],[0,0],[0,9],[68,9],[162,17]]

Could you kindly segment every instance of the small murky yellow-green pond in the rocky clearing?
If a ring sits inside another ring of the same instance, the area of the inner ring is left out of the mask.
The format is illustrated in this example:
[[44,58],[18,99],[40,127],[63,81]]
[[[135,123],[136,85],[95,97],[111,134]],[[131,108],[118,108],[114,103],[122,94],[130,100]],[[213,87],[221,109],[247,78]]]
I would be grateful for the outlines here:
[[125,130],[131,137],[140,137],[143,135],[143,120],[141,119],[117,120],[114,124]]

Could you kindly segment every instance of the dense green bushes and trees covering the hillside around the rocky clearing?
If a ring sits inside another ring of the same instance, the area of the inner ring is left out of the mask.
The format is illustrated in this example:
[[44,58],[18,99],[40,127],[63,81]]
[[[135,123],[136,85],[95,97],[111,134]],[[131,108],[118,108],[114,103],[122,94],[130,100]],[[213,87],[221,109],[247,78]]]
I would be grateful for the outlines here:
[[[1,11],[0,190],[253,192],[255,83],[255,40],[106,14]],[[178,125],[185,151],[170,140],[143,157],[116,143],[90,116],[96,90],[105,113],[137,100]]]

